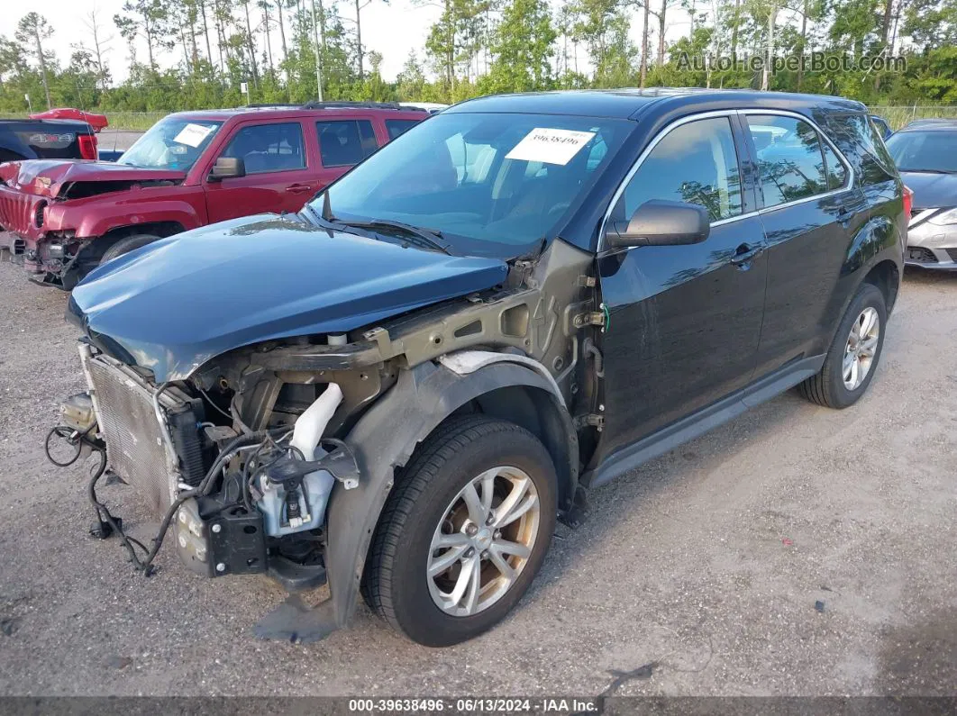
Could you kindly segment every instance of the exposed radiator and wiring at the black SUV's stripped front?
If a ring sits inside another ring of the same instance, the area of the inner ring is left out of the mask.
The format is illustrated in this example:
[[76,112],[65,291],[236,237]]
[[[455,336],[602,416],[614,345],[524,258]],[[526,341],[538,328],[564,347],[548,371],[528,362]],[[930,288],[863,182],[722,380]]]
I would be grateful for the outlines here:
[[[96,497],[103,460],[90,485],[98,536],[119,534],[147,575],[172,531],[180,560],[199,575],[268,573],[290,591],[324,582],[329,494],[337,480],[351,489],[359,479],[351,450],[323,440],[343,399],[336,383],[314,386],[316,399],[292,423],[251,430],[240,419],[237,429],[207,420],[217,406],[194,384],[156,386],[85,342],[80,359],[90,390],[64,403],[56,436],[106,451],[110,470],[161,518],[150,545],[129,538]],[[84,403],[92,420],[76,417]]]

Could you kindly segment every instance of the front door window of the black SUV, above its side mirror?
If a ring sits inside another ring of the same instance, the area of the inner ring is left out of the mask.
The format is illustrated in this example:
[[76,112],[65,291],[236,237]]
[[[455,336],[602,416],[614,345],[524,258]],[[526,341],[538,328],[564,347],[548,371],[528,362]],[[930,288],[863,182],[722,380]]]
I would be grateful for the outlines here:
[[711,221],[741,214],[741,173],[728,118],[697,119],[666,134],[634,173],[614,214],[627,219],[652,199],[703,206]]

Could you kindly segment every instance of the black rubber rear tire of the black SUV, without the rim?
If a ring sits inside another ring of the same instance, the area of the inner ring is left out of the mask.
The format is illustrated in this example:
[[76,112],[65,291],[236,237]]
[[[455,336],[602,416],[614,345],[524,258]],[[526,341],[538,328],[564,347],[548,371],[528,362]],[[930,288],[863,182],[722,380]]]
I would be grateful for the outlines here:
[[[842,370],[844,351],[847,346],[848,336],[851,334],[851,328],[855,321],[857,321],[857,317],[866,308],[873,308],[878,313],[878,344],[870,369],[864,377],[864,380],[861,381],[857,388],[850,390],[844,384]],[[867,390],[867,386],[871,384],[871,380],[877,372],[880,362],[880,353],[884,346],[886,327],[887,306],[884,301],[884,294],[880,293],[880,290],[874,284],[862,284],[860,288],[857,289],[857,294],[855,294],[851,305],[848,306],[847,312],[837,327],[837,333],[831,343],[831,349],[828,351],[827,358],[824,359],[824,366],[821,368],[820,373],[798,385],[798,393],[807,400],[815,402],[818,405],[824,405],[825,407],[840,409],[853,405]]]

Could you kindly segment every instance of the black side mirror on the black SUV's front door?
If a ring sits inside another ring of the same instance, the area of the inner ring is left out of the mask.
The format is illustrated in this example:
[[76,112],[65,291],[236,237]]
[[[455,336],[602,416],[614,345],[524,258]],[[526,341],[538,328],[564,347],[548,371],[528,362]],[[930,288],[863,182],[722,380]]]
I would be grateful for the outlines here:
[[703,206],[652,199],[638,206],[627,223],[610,223],[605,228],[605,246],[616,249],[700,244],[710,230],[708,212]]

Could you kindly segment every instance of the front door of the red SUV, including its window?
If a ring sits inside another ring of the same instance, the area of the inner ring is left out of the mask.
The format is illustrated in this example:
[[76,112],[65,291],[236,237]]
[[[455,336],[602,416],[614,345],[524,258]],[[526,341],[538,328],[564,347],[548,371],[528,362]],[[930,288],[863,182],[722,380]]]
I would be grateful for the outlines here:
[[[319,189],[299,119],[244,123],[214,157],[203,180],[210,223],[264,212],[299,211]],[[218,157],[241,159],[246,176],[211,180]]]

